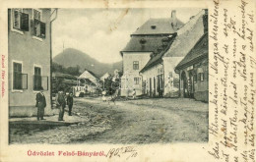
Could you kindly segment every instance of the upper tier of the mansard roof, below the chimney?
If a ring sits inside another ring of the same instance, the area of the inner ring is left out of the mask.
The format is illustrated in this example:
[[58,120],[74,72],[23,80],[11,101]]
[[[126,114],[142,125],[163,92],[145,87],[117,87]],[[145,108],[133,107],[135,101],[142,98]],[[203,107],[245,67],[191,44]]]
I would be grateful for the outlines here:
[[[142,27],[139,27],[134,34],[170,34],[182,27],[184,24],[176,19],[177,26],[171,26],[171,19],[150,19]],[[155,26],[155,27],[154,27]]]

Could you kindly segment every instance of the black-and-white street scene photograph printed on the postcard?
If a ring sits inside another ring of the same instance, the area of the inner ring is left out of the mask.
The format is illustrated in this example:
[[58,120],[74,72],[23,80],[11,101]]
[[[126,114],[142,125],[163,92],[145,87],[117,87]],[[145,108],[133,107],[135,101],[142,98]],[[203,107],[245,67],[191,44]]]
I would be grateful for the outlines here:
[[208,9],[8,9],[9,144],[209,140]]

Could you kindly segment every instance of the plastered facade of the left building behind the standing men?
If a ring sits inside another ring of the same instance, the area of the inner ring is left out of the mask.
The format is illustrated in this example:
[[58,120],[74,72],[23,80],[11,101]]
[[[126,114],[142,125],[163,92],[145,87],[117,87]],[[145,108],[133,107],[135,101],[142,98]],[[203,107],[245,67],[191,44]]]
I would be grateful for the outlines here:
[[40,87],[50,114],[50,9],[8,10],[9,115],[36,114]]

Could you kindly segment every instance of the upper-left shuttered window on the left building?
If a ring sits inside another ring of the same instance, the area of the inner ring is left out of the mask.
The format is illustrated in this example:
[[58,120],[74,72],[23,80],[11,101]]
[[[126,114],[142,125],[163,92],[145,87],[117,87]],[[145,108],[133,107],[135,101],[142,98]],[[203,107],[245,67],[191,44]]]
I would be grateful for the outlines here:
[[29,31],[29,14],[25,14],[22,11],[22,9],[13,10],[13,28]]

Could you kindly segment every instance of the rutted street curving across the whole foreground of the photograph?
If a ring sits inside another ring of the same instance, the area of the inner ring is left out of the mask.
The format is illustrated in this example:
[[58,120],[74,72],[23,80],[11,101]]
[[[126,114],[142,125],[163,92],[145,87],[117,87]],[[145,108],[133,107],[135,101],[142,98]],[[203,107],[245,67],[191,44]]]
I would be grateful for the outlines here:
[[[102,102],[100,98],[75,98],[73,113],[72,117],[80,117],[83,122],[44,129],[10,128],[10,142],[65,144],[208,141],[208,104],[192,99],[138,99],[108,103]],[[72,118],[67,117],[67,114],[65,117]]]

